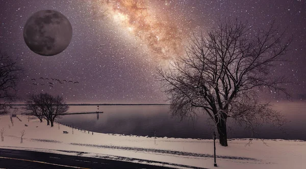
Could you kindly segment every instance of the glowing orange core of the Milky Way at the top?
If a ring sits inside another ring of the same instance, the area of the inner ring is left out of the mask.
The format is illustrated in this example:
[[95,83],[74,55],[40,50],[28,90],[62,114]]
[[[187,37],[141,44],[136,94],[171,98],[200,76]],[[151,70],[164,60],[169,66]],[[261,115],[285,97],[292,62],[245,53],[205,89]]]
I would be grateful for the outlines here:
[[[158,13],[152,1],[117,0],[89,2],[96,18],[108,18],[119,23],[121,28],[137,37],[155,58],[171,59],[183,53],[184,41],[187,39],[188,22],[182,23]],[[165,2],[165,7],[170,5]]]

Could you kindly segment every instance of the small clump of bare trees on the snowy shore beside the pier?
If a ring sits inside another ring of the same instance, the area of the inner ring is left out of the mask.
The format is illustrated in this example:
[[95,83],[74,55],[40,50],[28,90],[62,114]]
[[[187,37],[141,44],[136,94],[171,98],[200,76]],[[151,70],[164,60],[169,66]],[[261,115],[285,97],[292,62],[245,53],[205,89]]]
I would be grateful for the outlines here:
[[[47,120],[47,125],[51,124],[51,127],[54,126],[54,120],[60,115],[65,114],[69,109],[69,106],[64,102],[63,97],[54,97],[47,93],[31,95],[27,103],[28,104],[25,108],[36,109],[39,117],[45,118]],[[40,112],[42,114],[40,114]]]

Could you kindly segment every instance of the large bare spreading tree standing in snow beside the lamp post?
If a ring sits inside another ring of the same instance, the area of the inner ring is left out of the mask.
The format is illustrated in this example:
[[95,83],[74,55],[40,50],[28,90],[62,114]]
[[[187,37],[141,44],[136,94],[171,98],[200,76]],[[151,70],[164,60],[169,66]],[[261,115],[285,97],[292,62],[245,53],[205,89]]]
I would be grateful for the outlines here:
[[266,30],[254,31],[237,19],[220,21],[208,32],[191,38],[186,57],[158,68],[158,80],[169,95],[170,110],[181,120],[209,115],[216,124],[219,142],[227,146],[227,118],[254,129],[271,122],[281,126],[286,119],[269,103],[259,101],[261,91],[285,93],[284,76],[270,73],[278,61],[284,61],[291,39],[285,39],[272,23]]

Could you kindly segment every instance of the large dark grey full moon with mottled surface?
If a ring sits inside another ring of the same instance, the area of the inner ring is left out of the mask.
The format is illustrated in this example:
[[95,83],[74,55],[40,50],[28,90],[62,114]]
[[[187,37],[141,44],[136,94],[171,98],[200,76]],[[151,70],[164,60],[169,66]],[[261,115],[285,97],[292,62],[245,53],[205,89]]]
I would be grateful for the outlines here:
[[25,44],[37,54],[52,56],[65,50],[72,38],[72,26],[60,12],[34,13],[23,27]]

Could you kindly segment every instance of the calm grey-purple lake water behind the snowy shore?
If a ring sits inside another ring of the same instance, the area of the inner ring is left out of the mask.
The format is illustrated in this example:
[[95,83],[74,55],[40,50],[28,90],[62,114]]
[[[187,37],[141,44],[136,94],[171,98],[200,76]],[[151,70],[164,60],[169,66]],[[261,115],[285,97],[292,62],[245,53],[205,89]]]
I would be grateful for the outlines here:
[[[103,114],[65,115],[59,122],[73,125],[85,130],[101,133],[133,134],[158,137],[177,138],[211,138],[214,126],[209,123],[208,116],[199,116],[196,121],[183,121],[171,118],[168,105],[150,106],[99,106]],[[278,128],[265,125],[260,128],[261,138],[303,139],[306,140],[306,104],[276,104],[275,109],[281,110],[289,122],[286,133]],[[95,111],[96,106],[70,106],[70,112]],[[228,138],[249,138],[251,132],[244,127],[231,124]],[[258,136],[253,136],[257,138]]]

